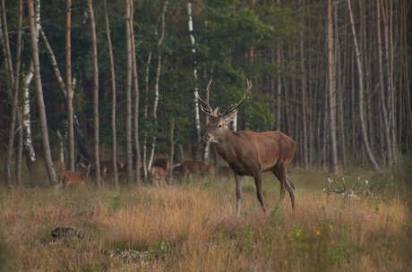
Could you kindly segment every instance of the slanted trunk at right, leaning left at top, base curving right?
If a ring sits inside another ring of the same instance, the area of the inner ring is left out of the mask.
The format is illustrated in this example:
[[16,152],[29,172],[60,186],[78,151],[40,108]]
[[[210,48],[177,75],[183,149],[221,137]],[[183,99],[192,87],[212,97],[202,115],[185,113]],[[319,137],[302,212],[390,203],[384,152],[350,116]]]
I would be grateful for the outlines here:
[[354,39],[354,47],[355,47],[355,54],[356,54],[356,64],[357,64],[357,72],[359,75],[359,121],[361,125],[361,133],[362,133],[362,141],[364,143],[365,147],[365,152],[366,156],[373,166],[373,169],[376,171],[380,171],[380,167],[376,163],[376,160],[373,157],[372,150],[369,145],[369,140],[367,139],[367,134],[366,134],[366,128],[365,128],[365,116],[364,116],[364,72],[362,70],[362,62],[360,59],[360,53],[359,53],[359,48],[357,46],[357,38],[356,38],[356,30],[355,30],[355,22],[354,22],[354,16],[352,13],[352,7],[350,4],[350,0],[348,0],[348,11],[349,11],[349,20],[350,20],[350,26],[352,29],[352,35]]

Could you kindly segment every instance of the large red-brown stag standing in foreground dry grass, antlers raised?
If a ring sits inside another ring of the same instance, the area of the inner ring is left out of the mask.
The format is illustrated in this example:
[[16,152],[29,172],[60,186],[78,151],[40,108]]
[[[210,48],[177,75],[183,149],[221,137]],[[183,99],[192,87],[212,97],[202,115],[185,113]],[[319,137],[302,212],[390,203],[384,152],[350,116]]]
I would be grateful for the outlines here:
[[[210,89],[209,81],[207,89]],[[246,94],[252,89],[247,81],[247,88],[242,100],[224,112],[219,108],[212,109],[208,102],[198,96],[202,111],[209,115],[209,124],[204,140],[214,142],[221,157],[235,173],[236,181],[236,212],[240,215],[241,185],[240,177],[250,175],[254,178],[256,193],[263,212],[266,208],[262,197],[262,172],[271,171],[280,182],[280,198],[278,205],[288,190],[292,208],[295,208],[295,187],[287,178],[287,168],[296,150],[296,143],[288,135],[276,132],[232,132],[229,123],[236,116],[237,108],[245,102]],[[240,177],[238,177],[238,175]]]

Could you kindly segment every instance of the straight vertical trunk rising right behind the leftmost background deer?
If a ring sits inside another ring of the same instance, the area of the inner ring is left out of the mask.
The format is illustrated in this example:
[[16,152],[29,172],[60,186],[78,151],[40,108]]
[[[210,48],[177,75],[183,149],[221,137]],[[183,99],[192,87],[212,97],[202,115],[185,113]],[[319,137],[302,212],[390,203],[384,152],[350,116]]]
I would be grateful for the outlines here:
[[67,93],[67,132],[68,132],[68,148],[69,148],[69,169],[74,171],[74,127],[73,127],[73,89],[72,89],[72,0],[67,0],[66,10],[66,25],[65,25],[65,82]]

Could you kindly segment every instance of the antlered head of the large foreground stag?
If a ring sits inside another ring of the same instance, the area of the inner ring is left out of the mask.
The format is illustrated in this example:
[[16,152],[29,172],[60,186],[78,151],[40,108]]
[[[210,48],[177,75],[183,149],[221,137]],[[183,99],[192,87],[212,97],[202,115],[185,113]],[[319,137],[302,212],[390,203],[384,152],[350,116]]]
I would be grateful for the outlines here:
[[[210,90],[210,84],[211,80],[209,81],[207,87],[208,91]],[[252,83],[251,81],[247,80],[247,87],[245,90],[244,97],[240,100],[239,103],[237,103],[236,106],[229,107],[224,112],[220,112],[219,107],[216,107],[213,110],[209,102],[202,100],[202,98],[200,98],[198,95],[197,98],[199,99],[199,105],[201,106],[202,111],[210,117],[208,129],[203,137],[203,140],[219,143],[224,137],[225,133],[230,132],[229,123],[232,122],[235,118],[237,114],[237,109],[239,108],[239,106],[242,106],[242,104],[245,102],[246,95],[249,93],[251,89]]]

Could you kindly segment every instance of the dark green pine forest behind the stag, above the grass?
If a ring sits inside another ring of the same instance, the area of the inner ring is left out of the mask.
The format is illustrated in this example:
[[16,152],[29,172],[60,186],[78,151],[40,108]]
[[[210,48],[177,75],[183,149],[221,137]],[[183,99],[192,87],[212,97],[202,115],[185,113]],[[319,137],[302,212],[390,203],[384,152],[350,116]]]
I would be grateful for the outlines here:
[[[35,79],[30,80],[35,39],[30,33],[29,3],[34,4],[35,13],[40,15],[36,24],[40,29],[39,72],[51,157],[55,166],[61,154],[66,167],[70,161],[66,86],[62,88],[56,77],[57,67],[66,82],[68,2],[3,0],[0,149],[5,167],[1,167],[0,174],[7,184],[17,183],[19,171],[14,171],[17,169],[14,166],[22,161],[24,170],[34,164],[33,151],[37,160],[45,156],[39,89]],[[128,4],[133,17],[127,16]],[[210,105],[225,108],[242,98],[249,79],[253,89],[239,112],[237,129],[285,132],[297,143],[295,166],[317,166],[332,172],[353,166],[375,170],[396,168],[410,160],[412,149],[411,6],[408,0],[112,0],[107,3],[95,0],[92,18],[88,1],[73,0],[70,53],[75,161],[95,161],[93,98],[97,85],[90,31],[90,23],[94,21],[99,67],[100,159],[112,157],[114,140],[109,57],[112,51],[119,158],[136,157],[137,150],[147,165],[153,140],[155,154],[169,154],[174,123],[175,163],[183,159],[182,154],[185,159],[212,161],[203,157],[204,143],[198,139],[194,91],[198,90],[205,98],[206,86],[212,79]],[[112,49],[107,42],[106,14]],[[191,18],[193,31],[189,28]],[[132,28],[127,29],[129,19]],[[131,30],[134,57],[127,51],[127,43],[132,42],[127,33]],[[55,68],[51,52],[56,58]],[[131,70],[133,62],[128,64],[131,56],[137,68],[138,85]],[[20,83],[14,88],[18,78]],[[137,93],[139,100],[135,104]],[[134,118],[136,105],[139,127],[134,130],[134,121],[130,126],[128,120]],[[10,133],[13,120],[15,125]],[[202,132],[205,122],[201,113]],[[31,134],[27,131],[28,124]],[[12,147],[10,135],[14,138]],[[28,138],[34,147],[31,151]],[[19,150],[26,158],[20,162]],[[12,156],[7,156],[9,153]],[[213,156],[211,149],[210,157]],[[128,167],[132,171],[135,165]],[[10,177],[6,176],[10,172],[7,167],[13,172]]]

